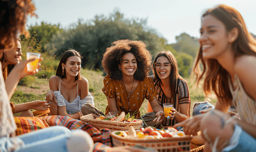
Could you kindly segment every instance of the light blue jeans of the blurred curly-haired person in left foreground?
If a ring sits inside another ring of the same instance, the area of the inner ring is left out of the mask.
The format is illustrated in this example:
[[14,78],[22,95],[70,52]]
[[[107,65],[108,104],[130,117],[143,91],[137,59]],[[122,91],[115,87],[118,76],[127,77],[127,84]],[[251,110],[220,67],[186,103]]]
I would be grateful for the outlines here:
[[[67,140],[73,132],[83,132],[82,130],[72,130],[63,126],[53,126],[31,133],[23,134],[15,138],[2,137],[0,139],[0,151],[7,151],[9,143],[22,143],[22,146],[15,151],[68,151]],[[9,144],[10,145],[10,144]]]

